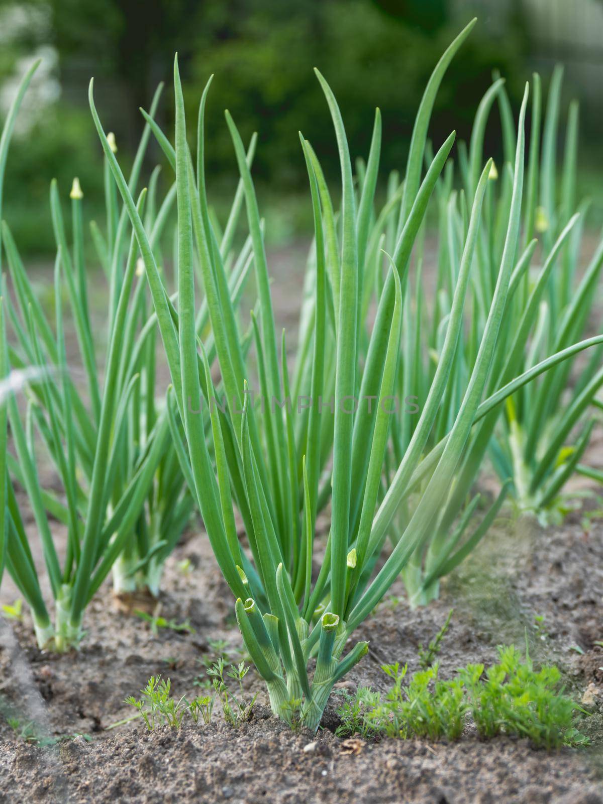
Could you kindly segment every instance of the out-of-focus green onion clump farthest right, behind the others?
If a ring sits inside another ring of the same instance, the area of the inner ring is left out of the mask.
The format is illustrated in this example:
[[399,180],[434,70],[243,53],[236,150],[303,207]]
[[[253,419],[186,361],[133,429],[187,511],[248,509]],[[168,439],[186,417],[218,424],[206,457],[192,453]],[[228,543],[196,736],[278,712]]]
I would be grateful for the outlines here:
[[[540,81],[534,76],[527,182],[528,197],[538,206],[526,204],[524,208],[524,242],[527,245],[533,234],[538,236],[541,267],[535,272],[528,269],[519,282],[510,315],[511,371],[524,370],[584,337],[593,325],[593,305],[600,293],[603,241],[585,269],[580,265],[589,201],[576,199],[576,100],[569,105],[564,161],[560,175],[556,174],[562,75],[557,66],[548,92],[541,144]],[[600,318],[596,326],[601,330]],[[560,493],[589,445],[592,404],[603,384],[602,355],[597,347],[588,361],[575,359],[557,366],[510,397],[490,444],[498,474],[513,478],[512,491],[520,509],[534,512],[543,521],[558,519],[563,511]]]

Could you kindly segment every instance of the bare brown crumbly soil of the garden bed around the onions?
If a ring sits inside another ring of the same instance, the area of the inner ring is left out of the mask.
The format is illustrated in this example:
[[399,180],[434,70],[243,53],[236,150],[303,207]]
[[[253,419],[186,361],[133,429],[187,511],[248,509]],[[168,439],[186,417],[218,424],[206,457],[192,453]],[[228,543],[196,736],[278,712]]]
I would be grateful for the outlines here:
[[[190,574],[178,569],[188,558]],[[195,692],[201,660],[228,643],[240,659],[232,599],[203,534],[188,535],[168,562],[162,615],[189,619],[195,633],[151,633],[140,618],[114,605],[107,585],[86,614],[88,633],[79,653],[54,656],[34,645],[28,617],[0,621],[2,702],[22,722],[34,720],[48,736],[85,734],[39,748],[0,724],[0,802],[603,802],[603,719],[585,721],[593,747],[547,754],[527,741],[481,742],[468,733],[457,744],[383,740],[348,745],[334,736],[337,696],[314,738],[293,733],[269,716],[260,679],[252,719],[233,728],[216,708],[210,725],[178,732],[146,732],[142,721],[106,731],[133,710],[135,695],[154,673],[169,675],[176,695]],[[10,599],[8,585],[2,597]],[[531,654],[557,662],[576,695],[603,682],[603,527],[589,535],[580,515],[562,528],[541,529],[523,519],[491,531],[474,556],[450,577],[439,601],[411,611],[401,585],[359,629],[370,641],[367,658],[345,682],[384,688],[381,662],[408,661],[429,642],[450,607],[452,625],[443,642],[441,674],[466,662],[490,662],[501,642],[523,642]],[[138,605],[138,603],[136,604]],[[538,633],[534,618],[544,616]],[[578,647],[583,654],[572,648]],[[314,744],[308,748],[310,744]],[[306,750],[305,750],[306,749]]]

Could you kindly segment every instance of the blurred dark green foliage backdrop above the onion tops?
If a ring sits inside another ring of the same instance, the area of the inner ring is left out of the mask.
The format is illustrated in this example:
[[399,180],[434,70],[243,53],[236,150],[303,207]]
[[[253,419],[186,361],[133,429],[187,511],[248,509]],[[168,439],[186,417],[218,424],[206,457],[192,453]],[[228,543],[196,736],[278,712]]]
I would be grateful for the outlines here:
[[[58,178],[66,199],[74,175],[88,211],[101,217],[101,156],[88,112],[88,80],[95,76],[96,105],[127,166],[142,130],[138,107],[148,107],[160,80],[166,88],[158,121],[170,133],[178,51],[191,142],[203,85],[215,73],[207,107],[207,174],[215,206],[220,208],[236,181],[223,114],[228,108],[245,138],[254,130],[260,134],[253,173],[269,238],[300,236],[310,228],[310,205],[297,131],[310,139],[334,181],[338,170],[314,66],[338,98],[353,155],[367,154],[378,105],[384,118],[382,176],[393,168],[403,172],[429,74],[474,15],[478,25],[437,96],[430,128],[436,144],[453,128],[457,137],[468,136],[493,68],[506,76],[514,104],[531,70],[538,68],[546,84],[556,59],[569,62],[566,95],[588,94],[588,68],[600,69],[603,59],[597,47],[591,53],[580,42],[585,37],[580,27],[574,25],[568,39],[566,5],[564,0],[544,0],[544,6],[537,0],[2,0],[0,119],[31,59],[43,57],[10,150],[6,218],[23,252],[51,254],[48,185]],[[593,14],[599,12],[603,27],[598,0],[568,5],[572,18],[584,6],[585,30],[593,28],[590,20],[597,22]],[[580,72],[584,64],[587,72]],[[486,142],[495,158],[497,115]],[[601,112],[589,113],[588,97],[581,132],[588,154],[602,133]],[[162,162],[154,143],[149,167],[151,162]]]

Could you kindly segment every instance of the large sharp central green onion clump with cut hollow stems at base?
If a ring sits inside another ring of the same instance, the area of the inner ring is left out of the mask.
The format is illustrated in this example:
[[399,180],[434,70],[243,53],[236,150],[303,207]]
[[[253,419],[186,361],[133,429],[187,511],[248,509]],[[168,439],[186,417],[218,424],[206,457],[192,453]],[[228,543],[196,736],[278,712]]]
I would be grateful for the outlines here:
[[[387,405],[382,403],[391,399],[396,385],[400,334],[404,315],[408,315],[405,313],[408,265],[429,199],[454,139],[451,134],[441,145],[421,181],[429,117],[445,68],[473,25],[470,23],[461,32],[442,57],[420,105],[396,236],[387,257],[389,269],[370,335],[363,322],[363,289],[367,281],[363,258],[371,228],[379,163],[379,113],[375,116],[373,147],[357,203],[343,119],[329,85],[317,71],[338,142],[342,204],[336,218],[318,155],[301,136],[301,154],[306,160],[314,211],[314,259],[309,263],[311,279],[306,282],[306,289],[314,287],[314,315],[302,318],[306,330],[311,329],[307,345],[307,353],[312,355],[311,370],[307,370],[308,363],[301,355],[296,381],[301,378],[299,383],[303,387],[304,375],[310,379],[313,400],[324,400],[325,389],[334,388],[332,414],[324,405],[313,405],[303,425],[293,420],[291,406],[283,404],[292,384],[284,341],[277,338],[275,331],[256,193],[243,143],[227,112],[226,122],[247,209],[258,297],[252,330],[257,376],[265,404],[260,410],[253,404],[245,342],[226,290],[228,275],[219,248],[219,232],[216,232],[207,201],[203,125],[211,79],[199,107],[196,164],[187,143],[177,59],[174,63],[174,146],[154,126],[158,142],[175,170],[177,305],[166,293],[150,232],[102,128],[94,105],[93,83],[90,84],[92,117],[142,254],[170,367],[172,389],[168,409],[183,427],[184,438],[177,447],[183,474],[195,493],[219,568],[236,597],[241,634],[256,670],[265,679],[273,712],[287,720],[289,701],[300,699],[302,719],[314,730],[318,728],[334,683],[367,652],[367,643],[360,641],[343,655],[353,632],[384,597],[416,551],[433,538],[434,528],[440,530],[441,511],[448,510],[451,486],[464,471],[463,461],[467,459],[467,443],[474,425],[477,423],[480,430],[494,412],[498,416],[498,405],[535,376],[577,351],[603,341],[603,337],[590,338],[564,349],[511,378],[490,396],[487,394],[491,369],[498,355],[497,344],[501,332],[505,332],[504,312],[519,248],[526,88],[517,133],[513,137],[515,158],[508,215],[503,222],[503,253],[486,306],[482,338],[463,385],[459,408],[451,417],[449,429],[425,454],[437,410],[449,383],[457,382],[451,371],[452,358],[457,351],[471,269],[480,247],[486,189],[492,170],[490,160],[485,166],[479,166],[474,192],[467,199],[466,234],[460,233],[460,259],[454,266],[451,313],[443,327],[442,353],[449,358],[438,361],[408,447],[392,478],[388,478],[383,494],[383,466],[391,416]],[[476,159],[481,162],[481,154]],[[220,397],[214,387],[208,343],[195,326],[195,268],[202,276],[204,303],[207,303],[211,323],[211,346],[215,347],[224,404],[219,404]],[[305,310],[307,313],[307,306]],[[372,416],[365,409],[355,409],[358,394],[375,395],[378,404]],[[282,407],[272,404],[273,400],[279,400]],[[203,410],[209,416],[211,436],[204,428],[207,417],[199,413]],[[332,439],[321,437],[323,431],[332,432]],[[331,521],[326,550],[319,556],[321,568],[316,575],[313,572],[314,535],[323,465],[320,453],[325,443],[332,464],[331,490],[327,492]],[[417,496],[412,513],[400,529],[399,538],[384,564],[377,569],[376,561],[392,522],[411,493]],[[235,509],[244,523],[246,538],[243,542],[237,537]],[[456,559],[456,553],[449,556],[449,560]],[[316,659],[314,674],[309,671],[310,658]]]

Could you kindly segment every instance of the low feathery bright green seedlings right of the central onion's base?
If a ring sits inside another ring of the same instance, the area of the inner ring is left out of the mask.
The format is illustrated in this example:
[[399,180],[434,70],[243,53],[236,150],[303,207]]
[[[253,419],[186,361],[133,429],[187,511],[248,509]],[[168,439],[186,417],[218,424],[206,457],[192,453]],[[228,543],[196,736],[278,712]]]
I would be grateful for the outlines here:
[[337,733],[457,740],[471,719],[484,740],[507,734],[548,750],[589,745],[577,728],[586,712],[565,695],[557,667],[536,671],[529,654],[522,658],[512,645],[500,646],[498,655],[499,662],[486,671],[482,664],[470,664],[449,681],[438,679],[436,662],[406,685],[406,665],[384,665],[391,689],[385,695],[367,687],[356,695],[344,693]]

